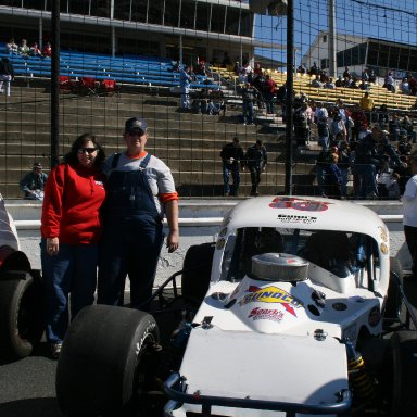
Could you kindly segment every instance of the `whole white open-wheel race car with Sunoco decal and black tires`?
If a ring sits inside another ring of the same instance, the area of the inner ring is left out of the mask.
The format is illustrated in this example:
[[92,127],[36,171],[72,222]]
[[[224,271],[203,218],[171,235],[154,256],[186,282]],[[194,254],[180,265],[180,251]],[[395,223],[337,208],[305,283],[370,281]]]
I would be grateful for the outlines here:
[[[66,415],[417,415],[417,337],[409,315],[393,328],[408,304],[370,210],[245,200],[215,247],[190,248],[181,275],[187,304],[167,342],[143,312],[98,305],[77,316],[56,374]],[[384,339],[387,328],[399,331]]]

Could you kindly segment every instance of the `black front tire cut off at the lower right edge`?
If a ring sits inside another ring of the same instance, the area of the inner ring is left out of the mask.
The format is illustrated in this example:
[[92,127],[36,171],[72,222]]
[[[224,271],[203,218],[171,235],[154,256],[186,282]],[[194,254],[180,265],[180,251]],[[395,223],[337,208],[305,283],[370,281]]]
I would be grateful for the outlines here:
[[417,331],[403,330],[390,339],[391,416],[417,416]]

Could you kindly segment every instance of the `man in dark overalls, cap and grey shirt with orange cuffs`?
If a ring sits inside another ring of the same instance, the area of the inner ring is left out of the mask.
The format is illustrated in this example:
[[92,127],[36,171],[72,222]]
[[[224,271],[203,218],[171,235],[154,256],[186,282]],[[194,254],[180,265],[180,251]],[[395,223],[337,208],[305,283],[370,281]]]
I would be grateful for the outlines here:
[[162,218],[166,214],[166,247],[179,244],[178,193],[170,169],[146,151],[148,124],[126,121],[126,150],[103,165],[108,200],[100,247],[98,303],[123,305],[126,275],[130,279],[131,307],[147,311],[163,244]]

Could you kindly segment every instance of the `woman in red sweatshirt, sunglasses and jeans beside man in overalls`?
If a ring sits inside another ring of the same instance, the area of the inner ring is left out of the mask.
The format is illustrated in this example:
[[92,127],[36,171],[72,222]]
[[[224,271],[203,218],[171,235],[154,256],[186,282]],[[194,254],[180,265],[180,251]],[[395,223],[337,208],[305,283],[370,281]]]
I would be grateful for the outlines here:
[[58,358],[71,318],[94,301],[104,151],[92,135],[73,143],[49,175],[41,217],[41,263],[47,302],[47,340]]

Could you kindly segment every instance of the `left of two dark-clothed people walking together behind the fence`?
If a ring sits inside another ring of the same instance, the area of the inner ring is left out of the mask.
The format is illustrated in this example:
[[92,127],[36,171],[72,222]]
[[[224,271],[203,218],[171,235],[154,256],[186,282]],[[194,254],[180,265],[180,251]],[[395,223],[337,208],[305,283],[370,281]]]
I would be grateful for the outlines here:
[[[223,147],[220,157],[223,161],[224,193],[226,197],[237,197],[239,194],[240,168],[244,170],[244,153],[238,137]],[[231,186],[229,182],[230,175],[233,180]]]

